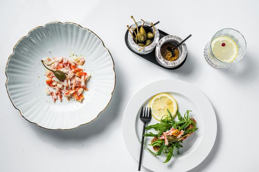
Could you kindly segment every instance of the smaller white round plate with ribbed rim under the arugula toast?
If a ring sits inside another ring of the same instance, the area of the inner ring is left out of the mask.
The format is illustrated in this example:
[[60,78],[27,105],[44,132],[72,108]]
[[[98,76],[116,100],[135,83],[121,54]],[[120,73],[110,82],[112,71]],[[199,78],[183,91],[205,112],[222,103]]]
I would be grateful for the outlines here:
[[[198,130],[183,142],[180,154],[177,155],[175,152],[175,156],[168,163],[163,163],[166,159],[163,153],[161,156],[154,156],[147,150],[147,147],[151,150],[153,148],[148,145],[152,138],[146,138],[142,166],[154,172],[186,172],[199,165],[207,157],[217,135],[214,109],[207,97],[196,87],[180,80],[162,80],[140,89],[129,100],[124,112],[124,141],[131,155],[138,161],[143,129],[143,123],[139,119],[140,109],[142,106],[148,106],[150,98],[162,92],[170,93],[176,99],[181,115],[184,115],[186,110],[192,110],[190,116],[196,120]],[[147,126],[158,122],[152,117]]]

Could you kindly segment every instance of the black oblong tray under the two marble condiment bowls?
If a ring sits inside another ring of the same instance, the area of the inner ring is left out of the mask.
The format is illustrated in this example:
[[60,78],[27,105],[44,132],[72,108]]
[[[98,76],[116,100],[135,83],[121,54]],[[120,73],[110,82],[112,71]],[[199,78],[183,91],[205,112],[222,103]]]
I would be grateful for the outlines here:
[[[159,35],[160,35],[159,40],[160,40],[162,37],[164,37],[164,36],[166,36],[166,35],[169,35],[168,33],[165,33],[164,31],[162,31],[162,30],[160,30],[160,29],[158,29],[158,30],[159,30]],[[132,51],[133,53],[135,53],[135,52],[134,52],[133,50],[131,50],[131,48],[129,47],[129,43],[128,43],[128,33],[129,33],[129,30],[127,30],[127,31],[126,31],[126,34],[125,34],[125,43],[126,43],[127,47],[129,48],[129,50]],[[156,65],[158,65],[158,66],[160,66],[160,67],[163,67],[163,68],[169,69],[169,70],[174,70],[174,69],[177,69],[177,68],[181,67],[181,66],[185,63],[185,61],[186,61],[186,59],[187,59],[187,55],[186,55],[186,58],[184,59],[184,61],[183,61],[179,66],[176,66],[176,67],[174,67],[174,68],[166,68],[166,67],[160,65],[160,64],[157,62],[156,57],[155,57],[155,52],[156,52],[156,48],[155,48],[151,53],[146,54],[146,55],[140,55],[140,54],[137,54],[137,53],[135,53],[135,54],[138,55],[138,56],[140,56],[140,57],[145,58],[145,59],[148,60],[148,61],[151,61],[152,63],[154,63],[154,64],[156,64]]]

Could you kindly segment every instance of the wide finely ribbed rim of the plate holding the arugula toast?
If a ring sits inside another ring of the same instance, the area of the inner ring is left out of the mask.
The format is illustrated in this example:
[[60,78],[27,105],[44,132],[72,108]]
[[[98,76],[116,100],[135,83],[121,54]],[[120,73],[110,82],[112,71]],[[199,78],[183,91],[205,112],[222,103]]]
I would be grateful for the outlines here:
[[[198,146],[196,146],[194,151],[189,154],[187,158],[176,159],[175,161],[177,163],[170,165],[164,164],[153,155],[147,155],[145,154],[146,152],[143,152],[144,154],[142,155],[142,166],[154,172],[187,172],[198,166],[209,155],[217,136],[217,118],[213,106],[205,94],[192,84],[181,80],[160,80],[148,84],[138,90],[130,98],[124,111],[122,120],[122,134],[124,142],[129,150],[129,153],[138,162],[140,143],[136,136],[136,115],[138,114],[139,108],[142,106],[142,104],[147,101],[147,97],[150,98],[151,96],[161,92],[176,92],[185,95],[191,100],[197,100],[196,106],[199,106],[201,113],[204,114],[204,112],[206,112],[206,115],[203,116],[203,135],[200,136],[201,141],[198,143]],[[205,142],[204,140],[209,142]],[[205,144],[206,147],[203,148],[201,144]],[[200,154],[194,154],[197,151],[201,151],[199,152]],[[196,157],[196,159],[192,159],[194,157]],[[191,161],[189,161],[190,159]]]

